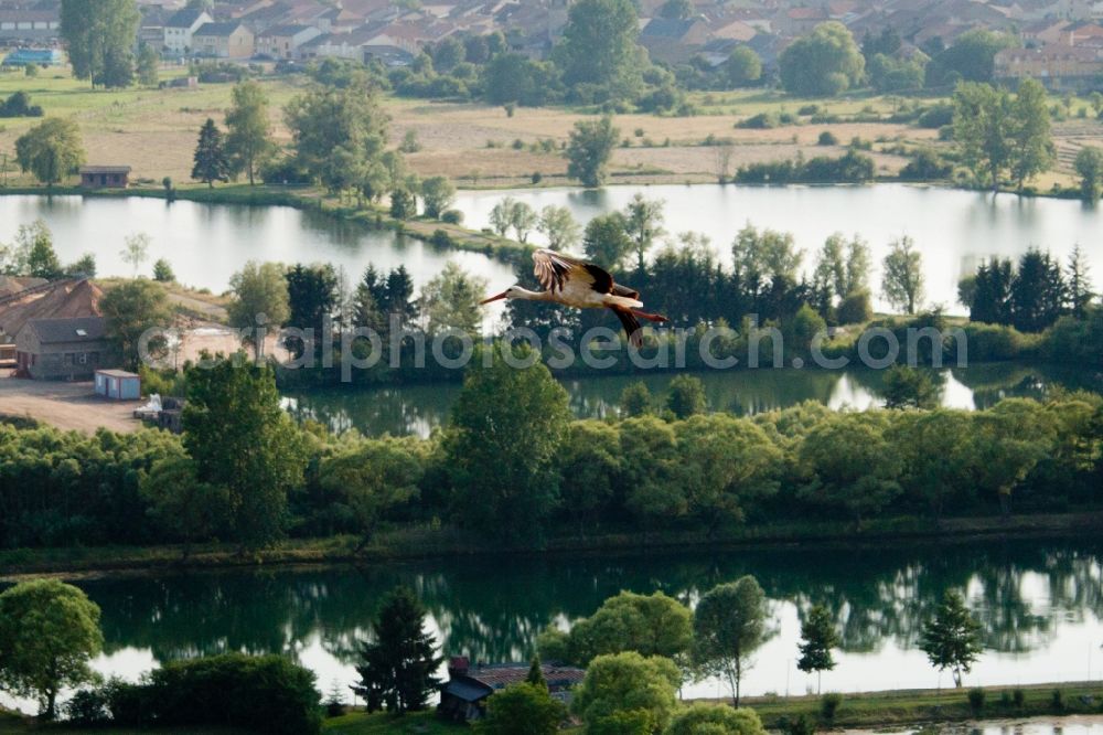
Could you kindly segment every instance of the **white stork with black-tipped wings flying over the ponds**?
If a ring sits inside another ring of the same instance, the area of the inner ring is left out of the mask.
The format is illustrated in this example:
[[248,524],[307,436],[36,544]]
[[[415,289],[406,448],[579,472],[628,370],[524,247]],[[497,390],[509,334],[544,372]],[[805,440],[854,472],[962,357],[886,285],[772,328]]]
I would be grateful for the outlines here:
[[536,264],[533,273],[544,287],[543,291],[511,286],[481,303],[499,299],[523,299],[552,301],[576,309],[611,309],[624,326],[629,341],[635,347],[643,343],[636,317],[649,321],[666,321],[666,317],[662,315],[640,311],[643,306],[640,291],[614,284],[609,271],[600,266],[543,248],[533,253],[533,262]]

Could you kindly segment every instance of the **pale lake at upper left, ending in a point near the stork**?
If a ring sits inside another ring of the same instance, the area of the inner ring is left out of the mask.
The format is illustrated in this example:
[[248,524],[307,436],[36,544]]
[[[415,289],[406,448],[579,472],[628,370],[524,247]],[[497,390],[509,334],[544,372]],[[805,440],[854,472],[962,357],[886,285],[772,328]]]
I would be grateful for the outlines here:
[[129,276],[132,268],[120,257],[122,241],[144,232],[152,237],[144,271],[163,257],[180,283],[215,292],[228,288],[229,277],[248,260],[331,263],[343,267],[353,285],[368,264],[383,270],[405,265],[420,285],[448,260],[488,278],[492,288],[514,280],[508,266],[476,253],[439,252],[389,231],[289,206],[0,196],[0,242],[10,243],[19,225],[38,217],[53,231],[62,263],[93,253],[99,275]]

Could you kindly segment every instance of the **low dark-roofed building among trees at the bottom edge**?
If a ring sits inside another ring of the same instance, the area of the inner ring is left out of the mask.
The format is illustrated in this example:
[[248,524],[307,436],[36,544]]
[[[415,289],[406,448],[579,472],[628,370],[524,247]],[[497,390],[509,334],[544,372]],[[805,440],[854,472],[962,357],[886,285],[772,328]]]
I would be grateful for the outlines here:
[[[486,700],[510,684],[525,681],[527,663],[493,663],[471,665],[465,656],[448,662],[448,681],[440,688],[441,716],[457,722],[480,720],[486,712]],[[570,699],[570,688],[582,681],[586,672],[575,667],[545,663],[540,667],[552,696],[563,702]]]

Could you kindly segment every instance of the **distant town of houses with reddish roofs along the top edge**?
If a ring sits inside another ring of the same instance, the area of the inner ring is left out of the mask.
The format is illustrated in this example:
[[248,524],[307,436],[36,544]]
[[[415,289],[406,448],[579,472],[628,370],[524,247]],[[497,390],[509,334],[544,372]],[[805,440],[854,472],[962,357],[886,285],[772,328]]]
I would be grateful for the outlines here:
[[[995,56],[996,79],[1035,77],[1057,89],[1097,86],[1103,75],[1103,0],[640,0],[640,44],[655,63],[719,66],[739,46],[761,60],[764,76],[796,38],[827,21],[857,40],[899,36],[892,55],[931,57],[964,33],[989,30],[1019,45]],[[511,51],[546,58],[568,21],[567,0],[142,0],[139,41],[163,58],[301,62],[377,60],[410,65],[446,40],[501,32]],[[60,0],[0,2],[0,44],[58,47]],[[8,63],[51,61],[15,54]],[[57,54],[53,61],[60,63]]]

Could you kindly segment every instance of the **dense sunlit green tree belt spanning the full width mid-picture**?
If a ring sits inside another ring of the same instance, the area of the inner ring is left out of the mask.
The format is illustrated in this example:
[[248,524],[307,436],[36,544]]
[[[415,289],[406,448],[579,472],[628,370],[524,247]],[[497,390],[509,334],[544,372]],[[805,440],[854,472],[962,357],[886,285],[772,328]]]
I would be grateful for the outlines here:
[[[200,371],[196,371],[200,372]],[[183,439],[86,437],[0,426],[0,543],[248,545],[445,522],[538,543],[548,532],[697,530],[810,516],[1096,503],[1103,408],[1094,395],[1007,400],[989,411],[699,415],[692,381],[661,414],[570,420],[540,364],[501,354],[469,370],[431,439],[333,436],[279,414],[267,369],[226,362],[192,377]],[[260,447],[260,449],[258,449]],[[248,455],[242,457],[240,455]]]

